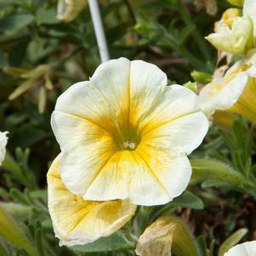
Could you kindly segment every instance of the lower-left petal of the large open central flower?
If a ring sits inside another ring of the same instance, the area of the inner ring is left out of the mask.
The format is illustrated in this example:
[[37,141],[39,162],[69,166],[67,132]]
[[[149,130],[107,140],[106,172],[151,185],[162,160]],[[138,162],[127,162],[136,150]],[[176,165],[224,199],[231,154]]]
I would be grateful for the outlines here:
[[114,153],[105,129],[81,117],[54,111],[52,126],[63,152],[60,175],[69,191],[82,195]]

